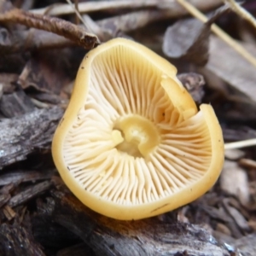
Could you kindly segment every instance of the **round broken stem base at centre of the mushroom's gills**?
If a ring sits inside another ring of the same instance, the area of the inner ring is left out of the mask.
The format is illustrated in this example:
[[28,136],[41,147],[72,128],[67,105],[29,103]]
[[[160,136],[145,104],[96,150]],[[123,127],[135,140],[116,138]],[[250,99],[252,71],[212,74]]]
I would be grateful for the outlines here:
[[147,157],[160,143],[160,135],[154,123],[133,114],[118,119],[113,127],[116,148],[134,157]]

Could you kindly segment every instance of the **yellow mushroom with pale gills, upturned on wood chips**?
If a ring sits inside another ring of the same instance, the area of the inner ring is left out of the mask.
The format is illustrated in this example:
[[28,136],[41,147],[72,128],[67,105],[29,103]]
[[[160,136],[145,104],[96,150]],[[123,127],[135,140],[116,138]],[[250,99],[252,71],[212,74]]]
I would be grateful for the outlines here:
[[148,218],[194,201],[218,179],[224,142],[177,70],[115,38],[85,55],[52,154],[80,201],[110,218]]

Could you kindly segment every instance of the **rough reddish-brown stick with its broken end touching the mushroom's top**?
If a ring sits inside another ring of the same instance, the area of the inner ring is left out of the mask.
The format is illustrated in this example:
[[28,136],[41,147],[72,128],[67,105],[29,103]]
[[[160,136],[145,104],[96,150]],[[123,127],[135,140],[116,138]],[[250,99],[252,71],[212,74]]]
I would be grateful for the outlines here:
[[20,23],[44,31],[54,32],[83,46],[86,49],[92,49],[96,44],[100,44],[96,35],[85,32],[81,26],[76,26],[66,20],[45,15],[34,15],[21,9],[11,9],[0,15],[0,22]]

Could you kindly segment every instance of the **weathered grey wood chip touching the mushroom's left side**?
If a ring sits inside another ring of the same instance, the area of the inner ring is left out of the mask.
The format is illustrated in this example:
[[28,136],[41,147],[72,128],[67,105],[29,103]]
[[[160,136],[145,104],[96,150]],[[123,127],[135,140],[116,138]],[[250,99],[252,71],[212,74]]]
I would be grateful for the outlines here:
[[0,169],[25,160],[34,148],[50,148],[62,114],[63,110],[55,107],[37,109],[19,118],[3,119],[0,122]]

